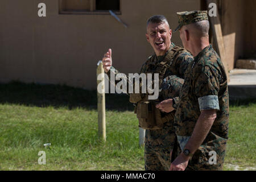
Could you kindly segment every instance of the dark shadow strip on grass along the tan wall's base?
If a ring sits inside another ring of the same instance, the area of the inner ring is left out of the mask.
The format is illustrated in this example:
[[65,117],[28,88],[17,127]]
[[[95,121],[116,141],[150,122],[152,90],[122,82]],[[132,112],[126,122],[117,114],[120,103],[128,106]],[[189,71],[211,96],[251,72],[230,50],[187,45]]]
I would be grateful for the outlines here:
[[[125,94],[106,94],[107,110],[133,110],[133,104]],[[65,85],[24,84],[13,81],[0,84],[0,103],[38,107],[68,107],[73,109],[97,109],[97,91],[73,88]]]

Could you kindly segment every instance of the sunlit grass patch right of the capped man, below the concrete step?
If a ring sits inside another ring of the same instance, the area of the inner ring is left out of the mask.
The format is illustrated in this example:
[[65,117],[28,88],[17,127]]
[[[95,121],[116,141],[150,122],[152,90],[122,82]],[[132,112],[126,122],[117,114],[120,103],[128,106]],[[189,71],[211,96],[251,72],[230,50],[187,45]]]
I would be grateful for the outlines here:
[[230,106],[226,169],[239,166],[241,169],[256,170],[256,104],[246,102],[234,102]]

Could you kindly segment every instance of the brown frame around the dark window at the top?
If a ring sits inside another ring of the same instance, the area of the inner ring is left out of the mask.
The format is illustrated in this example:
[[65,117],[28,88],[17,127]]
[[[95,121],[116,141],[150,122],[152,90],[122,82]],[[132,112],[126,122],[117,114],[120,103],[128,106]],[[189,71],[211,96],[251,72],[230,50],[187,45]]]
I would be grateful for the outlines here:
[[[112,10],[115,14],[121,15],[122,12],[122,0],[119,0],[119,11]],[[90,10],[89,11],[67,11],[64,10],[64,0],[59,0],[59,14],[77,14],[77,15],[84,15],[84,14],[93,14],[93,15],[109,15],[109,10],[96,10],[96,0],[90,0]]]

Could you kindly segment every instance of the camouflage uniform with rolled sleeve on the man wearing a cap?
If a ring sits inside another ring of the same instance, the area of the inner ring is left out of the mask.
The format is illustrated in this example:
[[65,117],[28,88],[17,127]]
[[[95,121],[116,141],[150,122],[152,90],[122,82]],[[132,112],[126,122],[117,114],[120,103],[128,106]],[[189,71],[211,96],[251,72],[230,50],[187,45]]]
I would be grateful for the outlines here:
[[[199,16],[206,19],[205,13]],[[181,14],[180,22],[183,18],[186,22],[189,13]],[[224,163],[229,124],[228,84],[224,65],[212,46],[205,47],[194,57],[180,91],[174,126],[182,151],[193,133],[200,111],[208,109],[216,109],[217,118],[186,170],[221,170]],[[210,151],[217,153],[217,164],[209,164]]]

